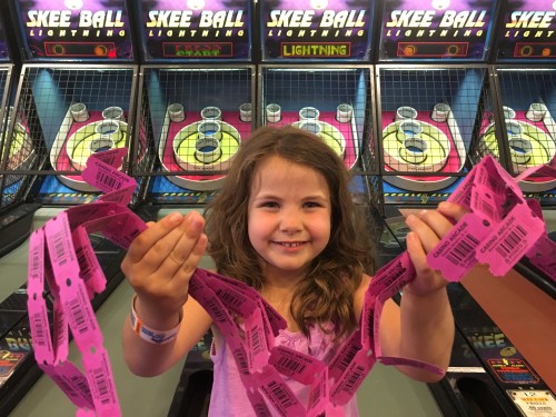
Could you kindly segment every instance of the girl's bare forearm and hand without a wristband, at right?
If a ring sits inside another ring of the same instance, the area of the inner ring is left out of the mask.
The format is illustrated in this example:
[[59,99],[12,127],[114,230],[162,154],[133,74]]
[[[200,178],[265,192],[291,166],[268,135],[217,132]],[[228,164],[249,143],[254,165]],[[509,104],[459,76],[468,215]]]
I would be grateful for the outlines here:
[[[408,216],[411,231],[407,235],[407,250],[417,277],[403,289],[400,307],[393,300],[385,302],[380,321],[383,355],[417,359],[447,369],[454,341],[454,317],[446,292],[447,281],[427,265],[426,254],[451,229],[449,218],[457,220],[465,212],[458,205],[443,202],[438,210]],[[358,298],[361,297],[359,292]],[[363,299],[359,304],[363,305]],[[398,368],[427,383],[441,378],[415,367]]]

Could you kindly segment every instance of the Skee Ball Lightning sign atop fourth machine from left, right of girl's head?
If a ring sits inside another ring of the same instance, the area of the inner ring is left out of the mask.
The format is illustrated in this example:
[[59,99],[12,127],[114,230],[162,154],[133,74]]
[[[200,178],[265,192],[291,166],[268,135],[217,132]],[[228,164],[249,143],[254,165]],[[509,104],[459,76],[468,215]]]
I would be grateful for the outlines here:
[[496,0],[385,2],[380,60],[484,60]]

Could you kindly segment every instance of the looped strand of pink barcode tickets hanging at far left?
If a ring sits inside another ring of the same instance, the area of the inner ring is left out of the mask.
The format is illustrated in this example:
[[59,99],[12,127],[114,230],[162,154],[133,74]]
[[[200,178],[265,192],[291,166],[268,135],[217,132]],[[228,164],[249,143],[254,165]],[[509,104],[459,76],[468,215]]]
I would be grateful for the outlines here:
[[[103,290],[106,280],[88,234],[106,231],[106,228],[108,234],[113,234],[111,230],[116,228],[118,235],[110,238],[127,247],[146,228],[137,215],[122,206],[129,202],[135,181],[97,160],[108,158],[109,162],[121,165],[122,155],[125,151],[113,150],[89,158],[88,175],[95,178],[91,182],[97,186],[102,182],[99,188],[105,191],[115,187],[117,191],[112,197],[108,193],[106,202],[63,211],[30,238],[28,311],[36,359],[82,416],[91,415],[91,410],[98,416],[121,414],[102,334],[90,305],[95,294]],[[111,177],[107,172],[111,172]],[[44,281],[54,297],[53,337],[42,295]],[[85,375],[67,360],[68,327],[82,354]]]

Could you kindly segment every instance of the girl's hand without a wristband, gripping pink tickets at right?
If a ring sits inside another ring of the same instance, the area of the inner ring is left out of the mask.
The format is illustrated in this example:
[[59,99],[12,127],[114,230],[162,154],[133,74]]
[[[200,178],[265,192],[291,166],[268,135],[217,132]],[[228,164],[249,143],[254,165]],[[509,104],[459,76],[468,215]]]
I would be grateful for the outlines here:
[[463,206],[445,201],[438,205],[437,210],[423,210],[407,217],[406,224],[411,229],[406,237],[407,251],[417,277],[404,288],[405,292],[425,297],[448,284],[441,274],[428,266],[427,254],[466,212]]

